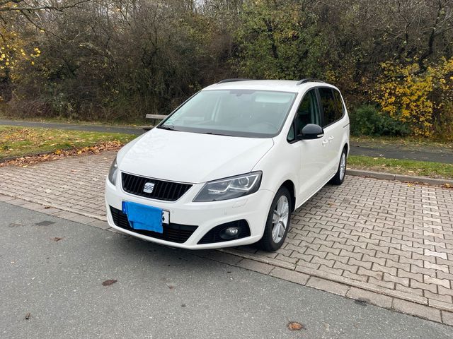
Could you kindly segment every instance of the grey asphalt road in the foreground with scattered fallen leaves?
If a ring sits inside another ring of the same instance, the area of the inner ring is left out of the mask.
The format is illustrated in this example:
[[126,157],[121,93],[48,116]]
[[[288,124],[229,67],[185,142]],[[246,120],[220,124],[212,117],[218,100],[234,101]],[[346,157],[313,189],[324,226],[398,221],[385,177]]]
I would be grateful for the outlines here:
[[[453,337],[449,326],[197,252],[7,203],[0,216],[1,338]],[[288,321],[306,329],[289,331]]]

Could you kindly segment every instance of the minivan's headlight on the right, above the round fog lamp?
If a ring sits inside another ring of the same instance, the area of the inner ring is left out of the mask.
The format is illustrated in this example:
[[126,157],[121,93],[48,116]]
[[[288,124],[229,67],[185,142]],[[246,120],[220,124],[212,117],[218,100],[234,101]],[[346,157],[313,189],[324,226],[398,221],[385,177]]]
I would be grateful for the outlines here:
[[251,172],[207,182],[193,201],[220,201],[255,193],[260,188],[261,174],[262,172]]

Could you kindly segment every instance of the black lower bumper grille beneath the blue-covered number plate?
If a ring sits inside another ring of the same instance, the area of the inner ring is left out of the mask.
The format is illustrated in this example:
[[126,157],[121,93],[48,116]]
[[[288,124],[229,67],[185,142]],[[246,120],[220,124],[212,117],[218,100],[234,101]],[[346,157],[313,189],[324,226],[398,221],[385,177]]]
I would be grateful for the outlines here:
[[167,242],[176,242],[178,244],[183,244],[187,242],[187,239],[195,232],[197,226],[191,225],[180,225],[180,224],[163,224],[162,228],[164,229],[163,233],[145,231],[145,230],[134,230],[130,227],[129,220],[127,220],[127,215],[122,213],[122,210],[117,210],[110,206],[110,211],[112,212],[113,222],[117,227],[121,227],[125,230],[132,231],[134,233],[139,233],[146,235],[147,237],[166,240]]

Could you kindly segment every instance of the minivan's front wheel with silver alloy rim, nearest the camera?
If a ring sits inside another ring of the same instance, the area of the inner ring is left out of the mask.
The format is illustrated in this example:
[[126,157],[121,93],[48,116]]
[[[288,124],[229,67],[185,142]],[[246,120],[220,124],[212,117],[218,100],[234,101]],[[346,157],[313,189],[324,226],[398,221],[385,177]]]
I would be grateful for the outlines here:
[[275,194],[270,204],[268,219],[264,227],[263,237],[258,247],[264,251],[273,252],[280,249],[285,242],[291,220],[292,197],[289,190],[282,186]]

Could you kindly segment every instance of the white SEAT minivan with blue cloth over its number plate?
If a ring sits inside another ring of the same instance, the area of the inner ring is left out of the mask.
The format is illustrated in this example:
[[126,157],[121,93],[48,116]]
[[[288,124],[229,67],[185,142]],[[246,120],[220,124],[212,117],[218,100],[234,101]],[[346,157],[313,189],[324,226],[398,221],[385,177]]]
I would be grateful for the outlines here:
[[105,181],[108,223],[185,249],[275,251],[292,211],[326,183],[343,183],[348,150],[335,86],[220,81],[117,153]]

